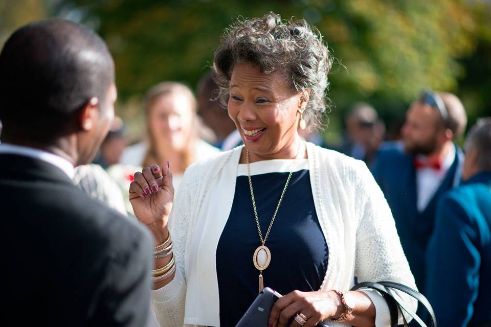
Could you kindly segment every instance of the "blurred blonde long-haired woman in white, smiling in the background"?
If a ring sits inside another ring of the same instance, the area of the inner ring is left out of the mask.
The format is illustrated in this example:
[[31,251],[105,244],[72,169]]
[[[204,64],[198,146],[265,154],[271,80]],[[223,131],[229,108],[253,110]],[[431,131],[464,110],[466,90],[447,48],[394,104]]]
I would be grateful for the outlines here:
[[[148,142],[138,143],[123,151],[120,163],[136,167],[170,162],[174,188],[178,187],[186,168],[219,152],[198,137],[196,99],[184,84],[162,82],[145,97]],[[133,171],[141,170],[141,168]]]

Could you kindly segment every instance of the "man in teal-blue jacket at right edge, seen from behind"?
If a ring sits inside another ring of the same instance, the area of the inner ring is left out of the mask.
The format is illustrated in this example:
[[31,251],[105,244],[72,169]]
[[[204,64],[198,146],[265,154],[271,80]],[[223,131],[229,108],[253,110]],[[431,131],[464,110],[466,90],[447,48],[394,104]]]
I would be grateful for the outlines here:
[[491,118],[468,133],[462,178],[437,207],[426,294],[441,326],[491,326]]

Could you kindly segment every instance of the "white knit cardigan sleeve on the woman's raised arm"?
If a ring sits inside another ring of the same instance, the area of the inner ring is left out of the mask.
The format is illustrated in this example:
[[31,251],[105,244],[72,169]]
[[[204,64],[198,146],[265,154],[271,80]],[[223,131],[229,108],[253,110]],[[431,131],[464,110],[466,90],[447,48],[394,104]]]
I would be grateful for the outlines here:
[[184,253],[189,229],[189,208],[191,207],[186,180],[184,177],[181,187],[174,196],[174,204],[169,217],[169,230],[174,243],[175,276],[166,286],[152,291],[150,301],[155,318],[162,327],[182,327],[184,325],[186,297]]

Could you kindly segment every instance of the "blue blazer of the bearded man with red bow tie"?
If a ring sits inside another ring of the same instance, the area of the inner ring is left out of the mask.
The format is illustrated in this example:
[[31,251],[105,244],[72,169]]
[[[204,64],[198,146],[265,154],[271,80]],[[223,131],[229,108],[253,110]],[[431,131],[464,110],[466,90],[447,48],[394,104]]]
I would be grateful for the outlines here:
[[384,192],[394,216],[400,243],[406,253],[416,286],[425,293],[426,247],[433,232],[438,198],[460,182],[463,153],[455,146],[455,159],[440,187],[424,211],[417,208],[416,169],[413,157],[400,143],[386,145],[378,155],[372,173]]

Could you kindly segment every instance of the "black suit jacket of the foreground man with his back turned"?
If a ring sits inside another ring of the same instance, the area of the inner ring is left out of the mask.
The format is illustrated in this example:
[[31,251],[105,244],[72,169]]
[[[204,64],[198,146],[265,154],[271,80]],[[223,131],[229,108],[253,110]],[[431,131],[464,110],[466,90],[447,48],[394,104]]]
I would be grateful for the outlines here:
[[5,326],[143,326],[149,233],[47,162],[0,154]]

